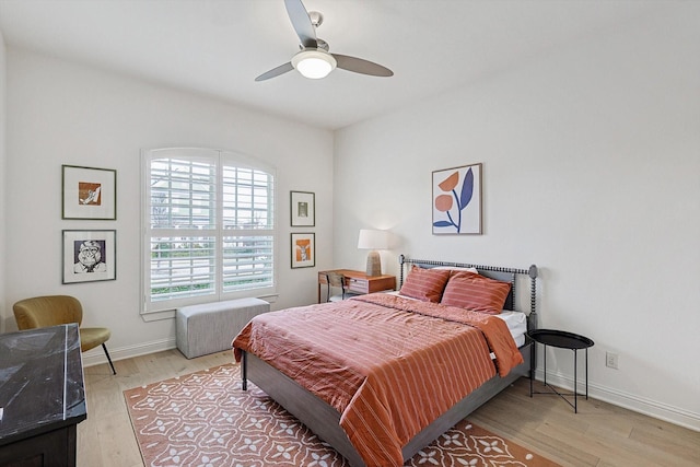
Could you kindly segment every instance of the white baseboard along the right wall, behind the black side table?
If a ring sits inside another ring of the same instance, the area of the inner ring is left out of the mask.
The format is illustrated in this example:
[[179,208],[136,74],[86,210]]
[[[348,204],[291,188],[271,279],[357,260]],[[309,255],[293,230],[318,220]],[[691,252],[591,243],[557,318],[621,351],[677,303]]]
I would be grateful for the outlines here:
[[[542,381],[542,371],[537,370],[535,377],[537,381]],[[552,384],[567,390],[573,390],[573,378],[571,376],[547,372],[547,384]],[[578,387],[580,392],[585,394],[585,386],[581,381],[579,381]],[[588,397],[700,432],[700,413],[591,382],[588,382]]]

